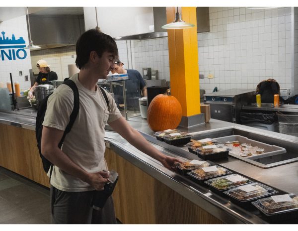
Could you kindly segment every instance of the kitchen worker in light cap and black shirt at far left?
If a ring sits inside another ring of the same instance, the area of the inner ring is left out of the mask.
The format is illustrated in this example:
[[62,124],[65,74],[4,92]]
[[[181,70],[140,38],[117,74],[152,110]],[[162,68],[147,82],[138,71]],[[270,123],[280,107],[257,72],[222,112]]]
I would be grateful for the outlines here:
[[39,70],[38,76],[35,80],[34,85],[31,87],[30,91],[28,92],[28,96],[30,99],[33,98],[33,92],[36,86],[40,84],[49,84],[49,81],[58,80],[58,76],[56,72],[51,71],[50,65],[48,65],[47,61],[41,59],[38,60],[36,63],[36,67]]

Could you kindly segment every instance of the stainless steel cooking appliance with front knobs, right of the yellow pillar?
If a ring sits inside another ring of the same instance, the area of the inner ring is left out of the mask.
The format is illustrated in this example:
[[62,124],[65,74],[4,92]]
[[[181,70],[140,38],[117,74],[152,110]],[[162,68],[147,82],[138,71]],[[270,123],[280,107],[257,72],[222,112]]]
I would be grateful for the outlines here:
[[210,105],[211,118],[240,123],[243,105],[253,102],[254,89],[229,89],[204,95],[205,104]]

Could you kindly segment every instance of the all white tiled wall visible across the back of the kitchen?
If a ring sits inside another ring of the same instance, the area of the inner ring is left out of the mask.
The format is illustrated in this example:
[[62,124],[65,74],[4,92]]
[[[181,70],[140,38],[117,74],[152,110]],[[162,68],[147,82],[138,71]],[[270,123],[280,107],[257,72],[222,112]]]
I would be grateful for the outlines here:
[[[199,72],[205,76],[200,88],[207,93],[215,87],[255,89],[260,81],[273,78],[281,88],[293,92],[296,86],[298,91],[298,69],[292,79],[291,13],[291,7],[210,7],[210,32],[198,33]],[[167,38],[117,41],[117,45],[125,68],[142,74],[143,67],[151,67],[158,70],[159,79],[170,80]],[[68,77],[67,65],[75,61],[75,47],[34,51],[31,56],[34,72],[35,63],[45,59],[62,80]],[[209,74],[214,78],[208,79]]]

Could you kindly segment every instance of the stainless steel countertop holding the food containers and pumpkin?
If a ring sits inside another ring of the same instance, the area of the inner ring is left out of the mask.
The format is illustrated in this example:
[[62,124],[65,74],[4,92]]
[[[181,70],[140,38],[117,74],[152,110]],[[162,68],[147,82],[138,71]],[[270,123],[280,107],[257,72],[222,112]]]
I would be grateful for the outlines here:
[[[27,112],[29,113],[29,112]],[[149,129],[147,120],[141,116],[131,118],[129,123],[141,132],[141,134],[149,140],[157,149],[169,156],[179,158],[196,159],[197,157],[184,147],[176,147],[168,145],[164,142],[156,140],[153,132]],[[34,130],[35,118],[34,113],[30,115],[22,115],[16,113],[1,113],[0,123],[10,124]],[[271,131],[265,131],[258,128],[247,127],[244,125],[224,122],[216,119],[211,119],[209,123],[191,127],[189,129],[182,128],[181,130],[192,133],[196,137],[204,136],[206,132],[220,133],[230,129],[241,129],[262,138],[278,138],[283,142],[287,141],[288,145],[298,147],[298,137],[279,134]],[[188,178],[176,174],[164,168],[158,161],[152,159],[148,155],[140,152],[134,146],[129,144],[118,133],[106,131],[105,140],[111,149],[115,150],[120,156],[127,159],[152,177],[158,179],[172,190],[178,192],[194,204],[203,208],[215,217],[229,224],[266,224],[267,222],[260,218],[259,211],[244,210],[234,204],[231,204],[227,199],[218,196],[207,188],[200,186]],[[298,155],[298,153],[297,153]],[[229,168],[233,172],[246,175],[255,181],[270,185],[282,192],[292,192],[298,194],[298,162],[293,162],[285,165],[276,166],[269,169],[263,169],[249,163],[240,161],[233,157],[214,161],[222,166]]]

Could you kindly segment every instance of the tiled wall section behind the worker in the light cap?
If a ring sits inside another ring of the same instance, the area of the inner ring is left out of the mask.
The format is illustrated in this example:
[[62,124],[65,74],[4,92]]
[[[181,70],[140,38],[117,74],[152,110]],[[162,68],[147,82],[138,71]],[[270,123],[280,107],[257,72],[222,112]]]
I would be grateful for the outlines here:
[[32,71],[38,74],[36,63],[40,59],[47,61],[51,65],[51,71],[58,75],[58,80],[69,77],[68,64],[75,64],[75,46],[65,46],[46,50],[31,51]]

